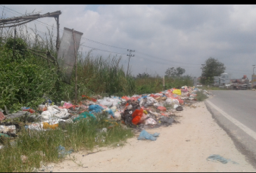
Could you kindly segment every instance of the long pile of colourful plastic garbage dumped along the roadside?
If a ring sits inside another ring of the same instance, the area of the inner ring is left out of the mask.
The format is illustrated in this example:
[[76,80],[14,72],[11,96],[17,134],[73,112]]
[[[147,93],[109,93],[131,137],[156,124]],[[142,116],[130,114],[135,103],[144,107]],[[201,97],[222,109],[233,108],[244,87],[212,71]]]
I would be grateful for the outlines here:
[[[67,123],[75,123],[81,119],[92,117],[96,119],[97,113],[107,113],[108,119],[121,122],[130,128],[158,128],[161,125],[172,125],[176,111],[183,111],[183,107],[191,106],[196,102],[196,92],[200,88],[183,86],[181,89],[171,88],[155,94],[133,95],[132,97],[100,97],[95,99],[83,95],[83,101],[78,105],[61,101],[61,105],[54,105],[47,99],[39,105],[37,110],[30,107],[21,107],[17,113],[8,113],[5,108],[0,110],[0,137],[16,137],[20,130],[18,123],[5,120],[22,118],[25,128],[45,131],[55,129]],[[203,91],[208,97],[209,91]]]

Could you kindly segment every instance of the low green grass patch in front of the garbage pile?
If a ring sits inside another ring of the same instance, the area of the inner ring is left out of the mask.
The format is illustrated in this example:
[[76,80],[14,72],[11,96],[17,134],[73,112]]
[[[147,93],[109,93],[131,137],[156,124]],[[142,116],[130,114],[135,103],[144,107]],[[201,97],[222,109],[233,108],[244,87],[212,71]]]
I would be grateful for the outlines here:
[[[33,168],[40,167],[41,161],[59,162],[64,158],[58,153],[60,145],[67,151],[76,152],[92,150],[95,145],[123,144],[127,138],[133,137],[133,131],[107,121],[105,116],[98,114],[97,117],[101,118],[97,120],[83,119],[55,130],[28,131],[22,128],[15,141],[8,137],[0,138],[5,145],[0,150],[0,171],[33,171]],[[107,132],[101,132],[102,128],[108,128]]]

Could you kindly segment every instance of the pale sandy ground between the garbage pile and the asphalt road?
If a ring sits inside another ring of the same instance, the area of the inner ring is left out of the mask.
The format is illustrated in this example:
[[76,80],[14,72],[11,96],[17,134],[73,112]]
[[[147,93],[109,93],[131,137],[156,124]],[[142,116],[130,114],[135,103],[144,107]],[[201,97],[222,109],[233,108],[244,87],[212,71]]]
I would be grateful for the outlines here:
[[[204,102],[185,107],[180,124],[146,130],[159,132],[157,141],[130,138],[123,147],[101,148],[86,156],[86,151],[72,153],[54,165],[55,171],[256,171],[236,150],[231,138],[214,122]],[[238,164],[208,161],[218,154]],[[84,156],[83,156],[84,155]],[[76,163],[75,163],[76,162]]]

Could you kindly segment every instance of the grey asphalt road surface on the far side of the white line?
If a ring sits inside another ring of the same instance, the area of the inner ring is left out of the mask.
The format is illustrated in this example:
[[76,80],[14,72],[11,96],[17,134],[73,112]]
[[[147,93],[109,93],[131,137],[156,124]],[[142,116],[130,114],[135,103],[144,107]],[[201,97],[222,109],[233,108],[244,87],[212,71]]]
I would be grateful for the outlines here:
[[209,99],[251,130],[256,132],[256,91],[228,90],[211,91],[214,97]]

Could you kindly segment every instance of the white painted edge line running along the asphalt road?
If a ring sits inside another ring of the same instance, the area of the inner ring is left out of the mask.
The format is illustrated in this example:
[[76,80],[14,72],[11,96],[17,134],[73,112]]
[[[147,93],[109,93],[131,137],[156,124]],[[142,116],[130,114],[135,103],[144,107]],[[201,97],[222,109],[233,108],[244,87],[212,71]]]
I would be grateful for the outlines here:
[[214,109],[219,111],[219,113],[221,113],[223,116],[225,116],[226,119],[229,119],[230,122],[233,122],[235,125],[237,125],[239,128],[241,128],[242,131],[245,131],[245,133],[247,133],[248,135],[253,137],[254,140],[256,140],[256,133],[254,131],[252,131],[251,128],[248,128],[247,126],[243,125],[238,120],[234,119],[232,116],[229,116],[229,114],[225,113],[219,107],[215,106],[214,103],[211,103],[211,101],[209,101],[209,100],[205,100],[205,101],[208,102],[212,107],[214,107]]

